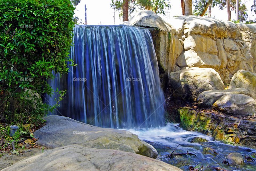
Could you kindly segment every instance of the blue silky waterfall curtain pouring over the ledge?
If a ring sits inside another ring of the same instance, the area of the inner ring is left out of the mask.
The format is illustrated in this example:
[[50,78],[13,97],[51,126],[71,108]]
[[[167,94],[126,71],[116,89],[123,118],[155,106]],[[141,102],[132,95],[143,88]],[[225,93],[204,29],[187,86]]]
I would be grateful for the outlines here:
[[[88,124],[111,128],[164,124],[165,99],[148,29],[132,26],[75,26],[67,75],[49,84],[66,89],[58,111]],[[47,96],[46,102],[54,105]]]

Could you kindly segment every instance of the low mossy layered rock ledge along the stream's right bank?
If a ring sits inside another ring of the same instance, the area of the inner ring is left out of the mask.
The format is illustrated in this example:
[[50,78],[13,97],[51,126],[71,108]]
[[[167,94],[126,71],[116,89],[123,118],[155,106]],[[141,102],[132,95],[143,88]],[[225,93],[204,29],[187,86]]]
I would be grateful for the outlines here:
[[198,131],[224,143],[256,146],[256,121],[238,119],[209,112],[198,112],[191,107],[179,107],[180,126],[189,131]]

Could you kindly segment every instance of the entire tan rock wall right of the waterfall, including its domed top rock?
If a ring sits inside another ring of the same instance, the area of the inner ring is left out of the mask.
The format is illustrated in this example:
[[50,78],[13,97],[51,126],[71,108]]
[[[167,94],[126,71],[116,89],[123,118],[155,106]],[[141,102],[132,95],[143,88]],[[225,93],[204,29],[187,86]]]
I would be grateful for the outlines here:
[[199,16],[166,22],[147,10],[124,24],[151,28],[161,78],[185,67],[213,68],[224,83],[239,69],[256,72],[256,24]]

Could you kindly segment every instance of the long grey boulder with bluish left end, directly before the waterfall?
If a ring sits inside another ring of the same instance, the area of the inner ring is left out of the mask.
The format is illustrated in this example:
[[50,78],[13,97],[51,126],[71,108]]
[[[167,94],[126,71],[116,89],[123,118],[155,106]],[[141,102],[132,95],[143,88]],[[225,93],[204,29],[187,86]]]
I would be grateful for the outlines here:
[[118,149],[157,158],[156,149],[129,131],[100,128],[68,117],[50,115],[46,125],[34,132],[37,143],[49,148],[79,144],[98,149]]

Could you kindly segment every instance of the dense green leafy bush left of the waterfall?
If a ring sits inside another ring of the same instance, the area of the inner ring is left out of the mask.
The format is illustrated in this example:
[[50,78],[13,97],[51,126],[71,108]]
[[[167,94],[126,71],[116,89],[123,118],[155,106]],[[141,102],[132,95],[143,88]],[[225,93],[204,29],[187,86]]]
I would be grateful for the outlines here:
[[2,122],[35,122],[52,109],[40,95],[52,93],[52,71],[67,73],[73,64],[73,15],[70,0],[0,1]]

